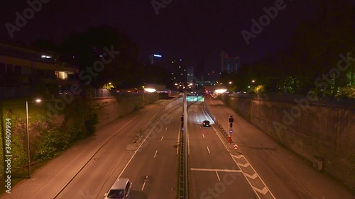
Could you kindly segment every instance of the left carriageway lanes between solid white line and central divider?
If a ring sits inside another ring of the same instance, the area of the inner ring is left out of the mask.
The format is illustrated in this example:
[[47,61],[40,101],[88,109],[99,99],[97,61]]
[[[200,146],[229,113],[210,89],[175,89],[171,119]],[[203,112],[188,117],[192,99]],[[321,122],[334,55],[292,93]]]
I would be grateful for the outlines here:
[[175,199],[178,184],[178,136],[182,106],[163,115],[120,175],[132,179],[132,199]]

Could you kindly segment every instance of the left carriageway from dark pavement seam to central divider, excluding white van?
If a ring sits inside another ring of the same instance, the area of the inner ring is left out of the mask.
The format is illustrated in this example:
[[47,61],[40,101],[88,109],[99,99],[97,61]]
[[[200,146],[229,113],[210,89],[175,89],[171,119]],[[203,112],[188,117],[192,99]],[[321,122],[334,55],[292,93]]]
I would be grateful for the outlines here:
[[[179,107],[179,106],[177,106]],[[182,106],[180,106],[182,107]],[[148,124],[148,137],[130,144],[142,124],[131,123],[104,144],[57,198],[104,198],[116,178],[130,178],[131,199],[175,198],[178,165],[178,130],[182,108],[158,115]],[[155,108],[155,114],[163,113]],[[158,113],[157,113],[158,112]],[[140,120],[149,120],[146,114]],[[158,121],[158,120],[157,120]],[[138,147],[138,148],[137,148]],[[136,150],[137,149],[137,150]]]

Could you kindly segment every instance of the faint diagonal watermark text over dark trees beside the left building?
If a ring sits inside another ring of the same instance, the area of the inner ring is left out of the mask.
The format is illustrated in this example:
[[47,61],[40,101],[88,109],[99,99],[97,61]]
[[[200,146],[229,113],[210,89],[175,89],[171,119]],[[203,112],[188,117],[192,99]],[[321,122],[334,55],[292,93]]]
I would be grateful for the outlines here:
[[[112,62],[112,60],[116,58],[116,55],[121,53],[119,51],[115,51],[113,45],[111,45],[111,49],[104,47],[104,51],[105,52],[102,55],[101,60],[94,62],[92,67],[86,67],[79,73],[79,79],[84,81],[85,85],[89,85],[92,82],[92,78],[104,70],[105,64]],[[50,103],[47,104],[47,118],[53,119],[56,115],[59,115],[59,111],[64,110],[65,106],[73,101],[73,94],[79,95],[81,92],[82,89],[79,84],[72,84],[70,86],[70,94],[62,95],[60,100],[55,101],[54,106]]]

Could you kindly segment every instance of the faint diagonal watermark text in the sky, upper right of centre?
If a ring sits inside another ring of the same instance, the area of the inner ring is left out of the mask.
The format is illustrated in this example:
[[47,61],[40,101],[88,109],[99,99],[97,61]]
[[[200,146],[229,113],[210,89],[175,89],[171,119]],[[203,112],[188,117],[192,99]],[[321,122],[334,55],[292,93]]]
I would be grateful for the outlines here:
[[[292,1],[292,0],[291,0]],[[246,45],[249,45],[249,40],[251,38],[256,38],[256,35],[263,32],[263,27],[268,26],[271,23],[271,19],[275,19],[278,16],[278,11],[283,11],[286,8],[286,4],[283,0],[276,0],[275,6],[270,8],[263,7],[264,15],[259,17],[259,20],[251,19],[251,32],[247,30],[241,30],[241,35],[243,36]]]

